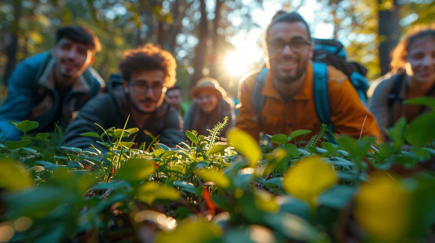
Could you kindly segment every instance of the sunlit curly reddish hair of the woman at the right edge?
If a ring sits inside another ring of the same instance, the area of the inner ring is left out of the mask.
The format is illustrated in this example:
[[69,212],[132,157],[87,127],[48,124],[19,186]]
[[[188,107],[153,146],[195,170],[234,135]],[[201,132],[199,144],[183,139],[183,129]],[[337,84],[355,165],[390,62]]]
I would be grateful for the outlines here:
[[431,27],[417,26],[408,35],[402,38],[397,46],[391,50],[390,68],[393,74],[405,72],[405,63],[408,56],[409,47],[415,41],[427,36],[435,37],[435,25]]

